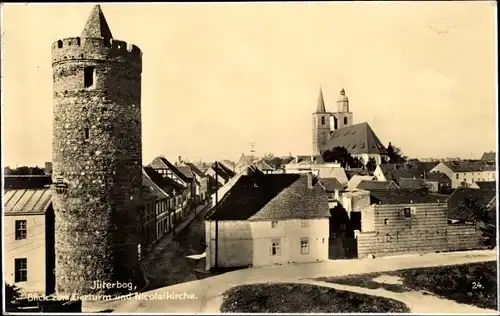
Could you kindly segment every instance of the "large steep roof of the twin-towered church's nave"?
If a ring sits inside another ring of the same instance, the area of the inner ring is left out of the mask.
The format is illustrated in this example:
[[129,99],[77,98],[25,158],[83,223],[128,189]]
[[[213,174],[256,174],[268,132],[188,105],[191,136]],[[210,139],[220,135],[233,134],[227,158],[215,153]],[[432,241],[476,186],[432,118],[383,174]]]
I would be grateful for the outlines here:
[[333,131],[322,150],[335,147],[344,147],[351,154],[387,154],[387,149],[366,122]]

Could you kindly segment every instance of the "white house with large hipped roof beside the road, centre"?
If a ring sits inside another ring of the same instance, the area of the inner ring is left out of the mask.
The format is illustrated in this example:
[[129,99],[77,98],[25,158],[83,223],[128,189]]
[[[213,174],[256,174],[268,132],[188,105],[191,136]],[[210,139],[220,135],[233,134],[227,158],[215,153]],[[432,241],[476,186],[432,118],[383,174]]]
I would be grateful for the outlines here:
[[329,217],[312,174],[241,176],[205,218],[206,269],[328,260]]

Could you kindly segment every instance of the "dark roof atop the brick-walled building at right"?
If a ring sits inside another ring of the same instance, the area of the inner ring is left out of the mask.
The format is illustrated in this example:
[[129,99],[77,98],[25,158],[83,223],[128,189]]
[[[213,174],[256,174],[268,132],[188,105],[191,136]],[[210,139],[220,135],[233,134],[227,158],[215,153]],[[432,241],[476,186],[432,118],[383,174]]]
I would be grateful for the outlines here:
[[447,195],[430,194],[428,190],[395,189],[371,190],[372,204],[417,204],[417,203],[445,203]]

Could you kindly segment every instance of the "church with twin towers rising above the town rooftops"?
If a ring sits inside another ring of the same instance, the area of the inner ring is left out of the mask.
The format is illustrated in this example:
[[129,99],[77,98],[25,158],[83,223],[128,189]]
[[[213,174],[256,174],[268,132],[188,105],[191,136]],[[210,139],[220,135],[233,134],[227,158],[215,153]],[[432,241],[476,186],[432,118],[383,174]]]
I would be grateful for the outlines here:
[[320,88],[316,111],[313,113],[313,156],[336,147],[344,147],[363,164],[370,158],[377,164],[387,160],[387,149],[367,122],[354,124],[349,98],[344,89],[336,102],[336,111],[329,112],[325,106],[323,90]]

